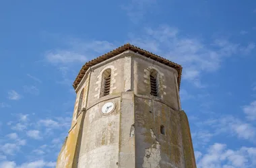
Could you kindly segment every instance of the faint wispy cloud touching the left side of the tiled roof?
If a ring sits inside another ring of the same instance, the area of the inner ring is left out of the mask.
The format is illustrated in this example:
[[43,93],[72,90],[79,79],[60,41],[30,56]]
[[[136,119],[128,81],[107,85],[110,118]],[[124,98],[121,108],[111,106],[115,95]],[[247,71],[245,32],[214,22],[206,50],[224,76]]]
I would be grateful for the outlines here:
[[[116,46],[113,43],[100,40],[83,41],[75,38],[67,38],[63,42],[65,48],[54,48],[45,53],[45,60],[54,65],[61,73],[61,79],[56,83],[71,86],[77,65],[82,66],[90,58],[100,56],[105,52],[113,50]],[[74,68],[75,67],[75,68]]]

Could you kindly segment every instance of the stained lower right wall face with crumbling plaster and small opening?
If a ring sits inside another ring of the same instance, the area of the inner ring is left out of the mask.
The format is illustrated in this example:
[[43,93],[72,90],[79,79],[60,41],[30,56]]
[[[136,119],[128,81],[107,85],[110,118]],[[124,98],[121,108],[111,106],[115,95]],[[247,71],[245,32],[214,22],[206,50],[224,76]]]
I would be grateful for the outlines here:
[[136,167],[184,167],[179,112],[161,101],[135,97],[135,143]]

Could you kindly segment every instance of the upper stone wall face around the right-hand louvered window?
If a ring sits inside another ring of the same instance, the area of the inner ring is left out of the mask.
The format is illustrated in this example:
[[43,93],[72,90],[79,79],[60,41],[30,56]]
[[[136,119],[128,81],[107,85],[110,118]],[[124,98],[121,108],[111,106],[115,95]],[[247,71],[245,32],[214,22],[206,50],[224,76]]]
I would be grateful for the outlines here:
[[150,95],[150,70],[158,72],[159,97],[166,101],[169,106],[179,110],[179,95],[177,93],[177,71],[166,65],[161,65],[155,60],[150,60],[144,56],[133,57],[133,85],[135,95]]

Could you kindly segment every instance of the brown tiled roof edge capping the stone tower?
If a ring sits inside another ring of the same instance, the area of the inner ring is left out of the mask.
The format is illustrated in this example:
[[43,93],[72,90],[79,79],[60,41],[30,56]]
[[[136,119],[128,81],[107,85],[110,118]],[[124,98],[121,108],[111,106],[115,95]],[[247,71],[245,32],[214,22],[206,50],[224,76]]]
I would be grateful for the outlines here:
[[158,56],[156,54],[153,54],[152,52],[148,52],[146,50],[143,50],[137,46],[133,46],[129,43],[123,45],[123,46],[120,46],[119,48],[116,48],[115,50],[112,50],[106,54],[103,54],[102,56],[99,56],[98,58],[95,58],[93,60],[90,60],[89,62],[86,62],[85,65],[83,65],[82,69],[79,71],[79,74],[77,75],[75,81],[73,82],[73,87],[74,89],[77,88],[77,86],[79,85],[79,83],[82,81],[86,71],[104,61],[104,60],[107,60],[108,58],[112,58],[113,56],[116,56],[118,54],[121,54],[122,52],[125,52],[126,50],[132,50],[133,52],[137,52],[138,54],[141,54],[143,56],[146,56],[148,58],[151,58],[153,60],[156,60],[164,65],[167,65],[169,67],[172,67],[173,69],[176,69],[177,72],[178,72],[178,85],[179,85],[179,88],[180,88],[180,85],[181,85],[181,72],[182,72],[182,67],[181,65],[178,65],[177,63],[174,63],[170,60],[167,60],[166,58],[162,58],[161,56]]

